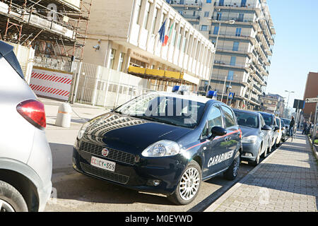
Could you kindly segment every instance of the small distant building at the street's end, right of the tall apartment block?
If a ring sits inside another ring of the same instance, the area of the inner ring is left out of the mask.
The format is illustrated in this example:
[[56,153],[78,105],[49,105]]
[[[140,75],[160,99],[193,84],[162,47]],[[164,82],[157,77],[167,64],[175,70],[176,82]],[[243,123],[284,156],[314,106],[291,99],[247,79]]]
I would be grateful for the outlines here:
[[277,94],[264,95],[261,97],[261,110],[284,117],[285,100],[284,97]]

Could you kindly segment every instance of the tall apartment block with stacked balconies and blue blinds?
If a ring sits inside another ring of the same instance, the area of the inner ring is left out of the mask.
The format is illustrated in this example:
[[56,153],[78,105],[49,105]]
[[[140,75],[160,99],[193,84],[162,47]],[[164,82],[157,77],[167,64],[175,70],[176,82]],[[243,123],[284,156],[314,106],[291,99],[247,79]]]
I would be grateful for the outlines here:
[[[260,109],[276,35],[266,0],[168,2],[216,44],[210,85],[219,100],[223,97],[226,102],[231,92],[235,93],[233,107]],[[202,90],[207,85],[208,81],[201,81]]]

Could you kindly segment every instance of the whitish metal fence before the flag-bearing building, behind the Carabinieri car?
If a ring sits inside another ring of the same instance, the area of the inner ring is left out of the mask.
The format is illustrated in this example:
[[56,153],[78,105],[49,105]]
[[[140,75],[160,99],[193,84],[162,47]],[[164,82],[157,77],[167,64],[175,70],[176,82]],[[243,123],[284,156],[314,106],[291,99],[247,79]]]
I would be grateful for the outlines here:
[[79,66],[74,85],[74,102],[110,108],[153,91],[146,79],[86,63]]

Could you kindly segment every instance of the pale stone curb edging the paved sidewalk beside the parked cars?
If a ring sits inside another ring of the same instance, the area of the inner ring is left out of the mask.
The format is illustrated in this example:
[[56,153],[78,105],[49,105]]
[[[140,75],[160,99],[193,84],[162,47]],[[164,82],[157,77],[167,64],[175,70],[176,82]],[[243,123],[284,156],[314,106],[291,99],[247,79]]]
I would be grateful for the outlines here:
[[[276,150],[279,150],[281,147],[276,148]],[[255,167],[254,169],[252,169],[245,177],[243,177],[239,182],[237,182],[237,184],[235,184],[234,186],[232,186],[232,188],[230,188],[228,191],[225,192],[225,194],[223,194],[222,196],[220,196],[214,203],[211,204],[211,206],[209,206],[208,208],[206,208],[206,210],[204,210],[204,212],[214,212],[214,210],[216,210],[228,197],[230,197],[237,189],[240,188],[240,186],[242,186],[250,177],[252,177],[252,175],[257,172],[257,170],[264,164],[266,163],[268,160],[271,159],[271,157],[273,157],[274,155],[276,155],[276,150],[274,150],[273,153],[271,153],[271,155],[269,155],[268,157],[266,157],[261,163],[259,163],[259,165],[257,165],[257,167]]]

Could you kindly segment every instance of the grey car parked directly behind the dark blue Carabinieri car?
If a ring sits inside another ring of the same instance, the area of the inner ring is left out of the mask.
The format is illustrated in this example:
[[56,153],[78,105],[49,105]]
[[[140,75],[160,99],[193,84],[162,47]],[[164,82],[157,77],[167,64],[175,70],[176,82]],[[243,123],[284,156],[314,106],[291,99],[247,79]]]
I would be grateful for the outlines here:
[[271,127],[259,112],[250,112],[241,109],[233,109],[237,123],[242,130],[242,160],[249,162],[249,165],[259,164],[261,155],[266,157],[271,150]]

